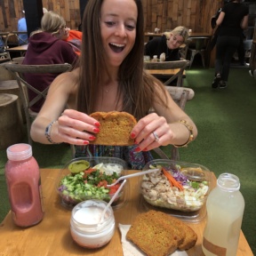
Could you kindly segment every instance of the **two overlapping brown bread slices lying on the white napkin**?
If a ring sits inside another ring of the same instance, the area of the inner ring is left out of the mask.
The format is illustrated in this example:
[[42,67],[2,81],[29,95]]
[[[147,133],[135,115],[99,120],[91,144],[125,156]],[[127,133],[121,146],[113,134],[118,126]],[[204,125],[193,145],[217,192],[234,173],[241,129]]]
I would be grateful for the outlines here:
[[177,249],[188,250],[196,244],[196,232],[181,220],[164,212],[140,213],[132,222],[126,239],[148,256],[168,256]]

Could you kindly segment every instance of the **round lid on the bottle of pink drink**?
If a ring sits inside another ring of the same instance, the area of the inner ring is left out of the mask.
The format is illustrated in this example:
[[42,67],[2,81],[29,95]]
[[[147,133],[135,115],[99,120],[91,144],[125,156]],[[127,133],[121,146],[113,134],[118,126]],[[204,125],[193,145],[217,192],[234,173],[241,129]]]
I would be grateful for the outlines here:
[[14,144],[6,149],[6,153],[9,160],[22,161],[32,156],[32,147],[26,143]]

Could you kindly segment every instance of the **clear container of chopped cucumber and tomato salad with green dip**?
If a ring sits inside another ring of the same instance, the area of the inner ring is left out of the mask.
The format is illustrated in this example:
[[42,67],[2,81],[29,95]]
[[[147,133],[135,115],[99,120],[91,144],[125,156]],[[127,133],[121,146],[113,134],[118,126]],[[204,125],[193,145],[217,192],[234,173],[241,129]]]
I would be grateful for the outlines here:
[[[73,208],[85,200],[98,199],[109,202],[121,183],[107,187],[125,175],[126,163],[116,157],[78,157],[69,161],[60,170],[56,182],[56,191],[60,195],[61,204]],[[116,196],[112,207],[124,204],[129,185]]]

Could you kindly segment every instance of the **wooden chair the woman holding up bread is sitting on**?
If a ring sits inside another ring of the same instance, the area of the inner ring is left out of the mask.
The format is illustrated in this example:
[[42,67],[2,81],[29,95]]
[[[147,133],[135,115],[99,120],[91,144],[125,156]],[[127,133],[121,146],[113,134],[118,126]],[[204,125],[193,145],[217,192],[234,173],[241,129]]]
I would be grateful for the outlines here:
[[[192,100],[195,96],[195,92],[190,88],[177,87],[177,86],[165,86],[172,99],[180,106],[182,110],[185,109],[188,100]],[[154,111],[154,109],[152,109]],[[169,146],[166,146],[169,147]],[[154,148],[153,151],[162,159],[170,159],[161,148]],[[172,146],[170,156],[172,160],[180,160],[179,148]]]

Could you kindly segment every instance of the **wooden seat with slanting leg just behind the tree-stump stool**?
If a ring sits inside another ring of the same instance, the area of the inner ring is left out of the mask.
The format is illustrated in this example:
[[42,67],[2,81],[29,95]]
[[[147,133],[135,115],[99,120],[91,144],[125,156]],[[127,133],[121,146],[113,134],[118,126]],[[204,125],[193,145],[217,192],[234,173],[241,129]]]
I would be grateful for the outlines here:
[[20,110],[21,110],[21,116],[23,120],[23,124],[26,124],[26,116],[25,116],[25,110],[23,108],[21,95],[20,95],[20,88],[16,80],[6,80],[6,81],[0,81],[0,93],[10,93],[17,95]]

